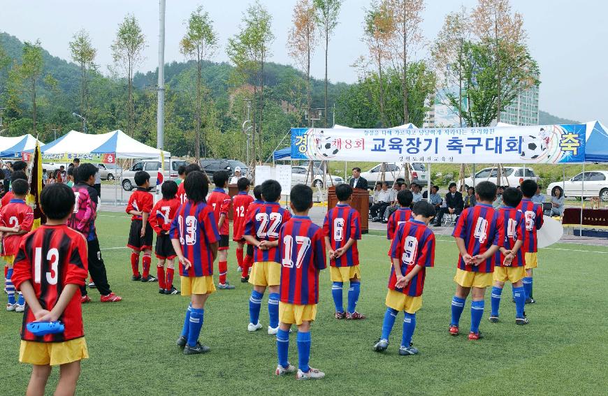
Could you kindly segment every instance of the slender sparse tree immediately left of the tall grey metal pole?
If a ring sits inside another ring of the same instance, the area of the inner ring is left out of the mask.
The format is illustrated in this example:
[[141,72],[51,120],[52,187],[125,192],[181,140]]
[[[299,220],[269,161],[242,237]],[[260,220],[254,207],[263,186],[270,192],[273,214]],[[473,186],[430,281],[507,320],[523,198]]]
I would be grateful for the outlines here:
[[145,36],[135,16],[126,15],[122,23],[118,25],[116,39],[111,48],[114,64],[126,72],[126,81],[129,86],[129,98],[127,101],[127,133],[129,136],[133,136],[135,117],[133,107],[133,71],[143,61],[142,52],[145,46]]

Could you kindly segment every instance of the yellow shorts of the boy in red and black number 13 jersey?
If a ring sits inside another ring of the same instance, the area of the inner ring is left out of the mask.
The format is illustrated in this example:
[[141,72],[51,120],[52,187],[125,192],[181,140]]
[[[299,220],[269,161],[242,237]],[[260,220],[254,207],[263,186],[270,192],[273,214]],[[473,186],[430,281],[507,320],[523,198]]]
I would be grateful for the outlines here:
[[77,360],[88,359],[89,351],[85,337],[65,342],[21,341],[19,361],[31,365],[66,365]]

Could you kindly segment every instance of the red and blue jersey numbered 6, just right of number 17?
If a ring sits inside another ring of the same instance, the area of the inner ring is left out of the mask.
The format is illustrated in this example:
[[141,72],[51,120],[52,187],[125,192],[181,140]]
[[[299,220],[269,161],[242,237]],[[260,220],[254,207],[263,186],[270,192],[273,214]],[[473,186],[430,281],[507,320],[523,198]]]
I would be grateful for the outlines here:
[[355,240],[350,249],[345,251],[342,256],[335,260],[330,259],[329,265],[332,267],[359,265],[359,250],[356,242],[361,239],[361,215],[359,211],[350,205],[338,203],[325,215],[323,233],[329,238],[331,249],[334,251],[343,247],[349,239]]

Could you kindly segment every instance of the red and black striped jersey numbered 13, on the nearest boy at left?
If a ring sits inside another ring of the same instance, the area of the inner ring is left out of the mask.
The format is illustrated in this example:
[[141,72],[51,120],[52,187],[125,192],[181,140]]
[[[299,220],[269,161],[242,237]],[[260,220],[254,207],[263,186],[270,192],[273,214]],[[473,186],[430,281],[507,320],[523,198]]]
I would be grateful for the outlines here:
[[[13,284],[20,289],[24,281],[31,282],[43,309],[50,311],[57,304],[66,285],[83,286],[87,277],[87,241],[76,230],[61,226],[41,226],[25,235],[13,267]],[[36,342],[64,342],[83,337],[80,289],[59,316],[63,333],[36,337],[27,331],[27,323],[36,321],[34,312],[26,306],[21,339]]]

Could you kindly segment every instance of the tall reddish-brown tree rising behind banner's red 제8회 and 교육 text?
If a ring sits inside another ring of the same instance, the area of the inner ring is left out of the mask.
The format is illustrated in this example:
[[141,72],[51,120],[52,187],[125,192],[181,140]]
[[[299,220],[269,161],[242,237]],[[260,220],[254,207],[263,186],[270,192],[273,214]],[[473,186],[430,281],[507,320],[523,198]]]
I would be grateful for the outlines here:
[[391,55],[393,68],[400,72],[401,89],[403,93],[403,123],[410,122],[410,112],[407,108],[407,64],[410,56],[422,42],[422,12],[424,0],[388,0],[393,16],[394,32]]

